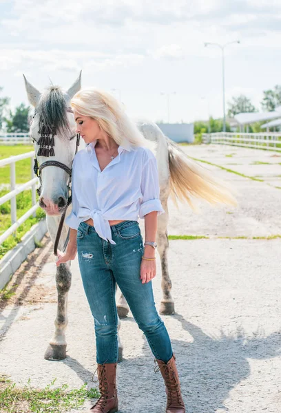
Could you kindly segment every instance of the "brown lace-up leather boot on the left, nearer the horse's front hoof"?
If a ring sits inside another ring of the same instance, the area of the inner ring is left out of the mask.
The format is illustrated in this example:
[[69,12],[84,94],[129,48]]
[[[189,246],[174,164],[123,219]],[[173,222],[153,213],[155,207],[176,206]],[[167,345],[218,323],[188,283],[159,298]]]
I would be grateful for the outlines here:
[[92,413],[115,413],[118,411],[116,366],[117,363],[98,364],[98,388],[101,397],[91,407]]

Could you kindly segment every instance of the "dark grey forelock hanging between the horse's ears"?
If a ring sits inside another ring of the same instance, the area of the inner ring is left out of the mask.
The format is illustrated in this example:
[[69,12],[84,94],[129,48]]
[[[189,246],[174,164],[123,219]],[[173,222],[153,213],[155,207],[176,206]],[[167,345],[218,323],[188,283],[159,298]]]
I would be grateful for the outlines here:
[[41,95],[36,112],[41,123],[64,136],[65,132],[70,131],[66,109],[67,103],[61,87],[52,85]]

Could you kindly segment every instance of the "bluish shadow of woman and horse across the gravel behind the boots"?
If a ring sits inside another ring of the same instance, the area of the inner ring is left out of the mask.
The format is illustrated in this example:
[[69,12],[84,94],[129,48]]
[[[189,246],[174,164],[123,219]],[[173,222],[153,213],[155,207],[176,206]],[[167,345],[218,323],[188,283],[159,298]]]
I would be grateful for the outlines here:
[[[268,337],[256,332],[253,337],[246,337],[240,328],[235,336],[227,336],[221,331],[218,337],[209,337],[182,315],[172,317],[193,338],[192,342],[172,339],[187,413],[227,411],[224,403],[230,390],[249,377],[247,359],[269,359],[280,355],[281,332],[273,332]],[[122,322],[134,321],[128,319]],[[145,336],[142,350],[142,356],[124,359],[118,364],[119,413],[165,412],[163,380],[160,372],[154,373],[154,358]],[[79,361],[67,357],[63,363],[89,387],[96,386],[92,382],[93,372],[83,368]]]

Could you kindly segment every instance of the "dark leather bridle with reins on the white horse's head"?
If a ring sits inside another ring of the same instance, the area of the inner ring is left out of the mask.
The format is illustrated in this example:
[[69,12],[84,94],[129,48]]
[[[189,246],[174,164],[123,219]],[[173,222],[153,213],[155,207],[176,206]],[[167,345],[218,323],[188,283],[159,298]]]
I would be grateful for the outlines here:
[[[67,112],[73,113],[71,107],[67,107]],[[35,116],[35,114],[34,114],[34,116]],[[74,138],[74,136],[72,138]],[[80,143],[80,134],[76,134],[75,155],[78,151],[79,143]],[[46,160],[45,162],[43,162],[42,165],[39,166],[37,156],[35,154],[33,170],[34,170],[35,175],[38,176],[39,181],[40,181],[40,187],[37,189],[37,193],[39,195],[41,194],[41,186],[42,186],[41,171],[45,167],[58,167],[58,168],[61,168],[61,169],[63,169],[63,171],[68,173],[68,175],[70,177],[70,179],[68,181],[68,184],[67,184],[67,195],[68,195],[67,203],[66,203],[65,208],[63,210],[63,213],[61,215],[61,220],[59,222],[59,228],[58,228],[58,231],[56,233],[56,239],[54,241],[54,255],[58,255],[58,245],[59,245],[59,240],[61,238],[61,231],[63,230],[63,223],[64,223],[64,220],[65,220],[65,214],[66,214],[67,208],[70,206],[70,204],[72,202],[71,185],[70,185],[71,184],[71,178],[72,178],[72,169],[70,167],[67,167],[67,165],[65,165],[62,162],[59,162],[57,160]],[[66,237],[65,243],[63,245],[63,251],[65,251],[65,248],[67,247],[69,237],[70,237],[70,229],[68,230],[67,237]]]

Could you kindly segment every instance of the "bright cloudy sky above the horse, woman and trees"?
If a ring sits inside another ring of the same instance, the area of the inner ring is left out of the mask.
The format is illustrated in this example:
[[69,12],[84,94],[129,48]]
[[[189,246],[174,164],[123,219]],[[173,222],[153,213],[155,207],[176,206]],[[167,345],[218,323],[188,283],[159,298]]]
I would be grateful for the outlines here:
[[281,0],[0,0],[0,96],[27,104],[22,74],[43,91],[82,70],[82,87],[133,118],[218,118],[222,51],[204,43],[238,40],[225,47],[226,103],[245,94],[261,109],[281,84]]

